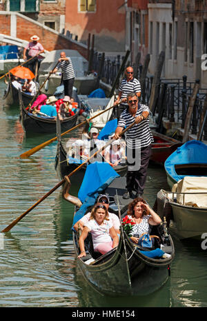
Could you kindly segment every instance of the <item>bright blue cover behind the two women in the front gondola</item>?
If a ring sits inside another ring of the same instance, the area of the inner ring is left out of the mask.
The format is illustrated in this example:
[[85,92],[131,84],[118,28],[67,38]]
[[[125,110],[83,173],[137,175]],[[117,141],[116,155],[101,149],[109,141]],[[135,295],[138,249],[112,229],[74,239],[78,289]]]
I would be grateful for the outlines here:
[[98,194],[116,177],[119,177],[119,174],[108,163],[95,162],[87,166],[78,194],[83,205],[76,212],[72,226],[83,217],[89,206],[95,204]]

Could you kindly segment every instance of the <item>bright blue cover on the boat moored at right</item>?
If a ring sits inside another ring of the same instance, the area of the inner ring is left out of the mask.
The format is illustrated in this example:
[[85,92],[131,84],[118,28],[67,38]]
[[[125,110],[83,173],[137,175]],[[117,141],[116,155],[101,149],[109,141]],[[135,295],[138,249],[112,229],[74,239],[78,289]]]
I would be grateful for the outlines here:
[[206,164],[207,146],[201,141],[188,141],[173,152],[164,164],[166,172],[176,181],[181,180],[185,175],[177,175],[175,165],[181,164]]

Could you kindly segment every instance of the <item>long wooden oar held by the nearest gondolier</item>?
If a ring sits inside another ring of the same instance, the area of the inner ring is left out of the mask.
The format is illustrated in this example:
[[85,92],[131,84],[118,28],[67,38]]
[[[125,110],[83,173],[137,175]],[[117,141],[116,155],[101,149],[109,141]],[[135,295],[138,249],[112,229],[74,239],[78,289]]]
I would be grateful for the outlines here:
[[[126,130],[123,130],[123,132],[121,132],[120,136],[122,136],[125,132],[127,132],[128,130],[130,130],[130,128],[132,126],[135,125],[136,122],[132,123],[130,126],[128,126],[126,128]],[[101,147],[97,152],[95,152],[95,154],[92,154],[92,156],[90,156],[89,158],[87,158],[87,160],[85,162],[83,162],[81,165],[79,165],[79,167],[77,167],[74,171],[72,171],[70,174],[68,174],[68,178],[70,178],[73,174],[75,174],[76,172],[79,171],[79,169],[81,169],[81,167],[83,167],[86,163],[88,163],[88,161],[90,161],[91,158],[95,157],[97,154],[99,154],[100,152],[103,151],[103,149],[105,149],[106,147],[108,147],[112,141],[114,141],[115,138],[112,138],[110,141],[108,141],[108,143],[106,143],[105,146]],[[48,191],[47,194],[45,194],[42,198],[40,198],[39,200],[37,200],[37,202],[32,205],[29,209],[27,209],[27,211],[25,211],[23,214],[21,214],[21,216],[19,216],[18,218],[16,218],[16,220],[14,220],[10,225],[8,225],[8,227],[6,227],[5,229],[3,229],[1,232],[5,233],[10,231],[10,229],[12,229],[12,227],[14,227],[14,225],[16,225],[19,220],[21,220],[24,216],[26,216],[30,211],[32,211],[32,209],[34,209],[34,207],[36,207],[37,205],[39,205],[39,203],[41,203],[43,200],[45,200],[48,196],[50,196],[50,194],[53,193],[53,191],[56,191],[56,189],[58,189],[61,185],[63,185],[63,183],[65,182],[65,179],[63,178],[61,180],[61,182],[57,183],[57,185],[55,185],[55,187],[53,187],[52,189],[50,189],[50,191]]]

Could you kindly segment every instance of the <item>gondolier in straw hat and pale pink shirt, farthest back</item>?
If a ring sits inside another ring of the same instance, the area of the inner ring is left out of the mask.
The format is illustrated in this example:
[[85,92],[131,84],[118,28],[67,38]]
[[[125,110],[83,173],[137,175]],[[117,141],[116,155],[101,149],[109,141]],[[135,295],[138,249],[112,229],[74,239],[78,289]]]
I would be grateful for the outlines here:
[[[38,42],[39,37],[37,37],[36,35],[32,36],[30,40],[32,41],[30,41],[28,45],[26,45],[26,48],[24,48],[23,50],[23,60],[26,61],[27,59],[30,59],[36,56],[27,64],[27,67],[31,70],[31,72],[35,74],[36,65],[38,70],[39,65],[41,63],[41,59],[43,59],[41,55],[37,56],[37,54],[41,54],[42,52],[44,52],[44,48],[43,48],[43,45],[41,45],[41,43]],[[28,53],[27,53],[27,50],[28,50]]]

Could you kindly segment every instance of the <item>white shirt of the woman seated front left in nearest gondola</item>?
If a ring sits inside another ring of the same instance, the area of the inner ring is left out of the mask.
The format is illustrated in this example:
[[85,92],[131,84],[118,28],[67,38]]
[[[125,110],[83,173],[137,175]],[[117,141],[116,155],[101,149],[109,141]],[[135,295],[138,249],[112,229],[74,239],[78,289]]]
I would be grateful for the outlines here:
[[94,249],[100,243],[111,242],[112,239],[109,234],[109,229],[112,227],[112,222],[110,222],[110,220],[103,220],[103,225],[99,225],[96,220],[89,220],[88,223],[86,223],[86,227],[88,227],[92,235]]

